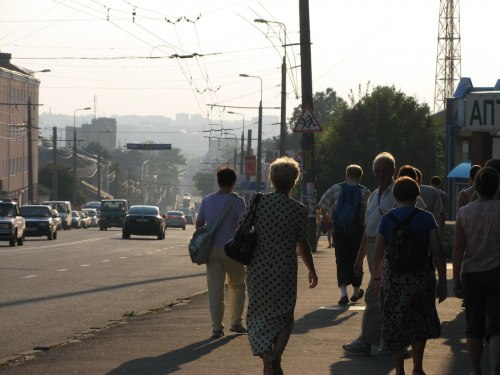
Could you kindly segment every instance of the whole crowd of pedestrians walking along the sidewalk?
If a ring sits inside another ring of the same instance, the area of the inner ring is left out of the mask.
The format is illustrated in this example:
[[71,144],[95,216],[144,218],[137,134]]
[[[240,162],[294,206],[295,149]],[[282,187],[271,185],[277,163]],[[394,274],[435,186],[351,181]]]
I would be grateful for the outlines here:
[[[404,375],[408,347],[412,349],[412,375],[425,375],[424,350],[429,339],[440,337],[436,299],[447,296],[446,259],[441,236],[450,200],[434,176],[424,185],[422,173],[404,165],[396,176],[396,160],[378,154],[372,165],[377,189],[360,184],[363,170],[346,168],[346,180],[329,188],[319,201],[320,220],[331,229],[340,289],[338,304],[364,297],[360,332],[343,345],[348,353],[390,354],[396,375]],[[500,159],[485,168],[473,166],[471,187],[457,197],[453,248],[453,281],[457,298],[464,299],[467,351],[471,374],[482,374],[484,346],[490,354],[490,374],[500,375]],[[264,374],[282,374],[282,354],[294,325],[297,300],[297,255],[306,265],[308,283],[318,276],[308,241],[308,208],[290,197],[300,174],[297,163],[280,158],[271,164],[274,192],[260,199],[255,216],[257,245],[250,264],[227,258],[223,245],[249,214],[250,204],[237,200],[215,234],[207,263],[207,283],[213,321],[212,337],[224,335],[223,290],[230,291],[231,331],[248,333],[252,352],[263,361]],[[214,222],[232,192],[236,173],[217,172],[220,190],[205,197],[197,227]],[[395,180],[396,178],[396,180]],[[226,259],[227,258],[227,259]],[[368,285],[361,288],[364,261]],[[437,277],[437,279],[436,279]],[[246,281],[246,283],[245,283]],[[353,290],[349,297],[347,287]],[[332,286],[333,288],[333,286]],[[248,291],[246,328],[242,324],[245,291]],[[248,331],[247,331],[248,330]]]

